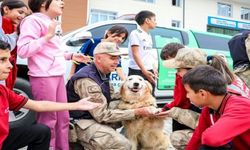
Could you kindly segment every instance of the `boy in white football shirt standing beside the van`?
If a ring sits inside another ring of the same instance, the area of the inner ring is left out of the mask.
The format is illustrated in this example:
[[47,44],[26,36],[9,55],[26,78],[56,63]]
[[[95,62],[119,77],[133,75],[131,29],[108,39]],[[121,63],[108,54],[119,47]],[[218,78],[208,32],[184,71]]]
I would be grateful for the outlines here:
[[135,21],[139,27],[133,30],[129,36],[128,75],[142,76],[151,83],[154,89],[157,71],[154,68],[153,42],[149,32],[156,27],[156,17],[153,12],[144,10],[135,16]]

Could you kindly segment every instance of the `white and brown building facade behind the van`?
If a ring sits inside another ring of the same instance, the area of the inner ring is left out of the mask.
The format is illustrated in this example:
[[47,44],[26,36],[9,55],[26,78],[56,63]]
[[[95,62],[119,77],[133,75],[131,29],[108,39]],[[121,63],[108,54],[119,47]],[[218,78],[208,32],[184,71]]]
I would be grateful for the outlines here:
[[[26,0],[27,1],[27,0]],[[141,10],[156,14],[160,26],[233,35],[250,30],[250,0],[64,0],[64,33],[87,24],[131,19]]]

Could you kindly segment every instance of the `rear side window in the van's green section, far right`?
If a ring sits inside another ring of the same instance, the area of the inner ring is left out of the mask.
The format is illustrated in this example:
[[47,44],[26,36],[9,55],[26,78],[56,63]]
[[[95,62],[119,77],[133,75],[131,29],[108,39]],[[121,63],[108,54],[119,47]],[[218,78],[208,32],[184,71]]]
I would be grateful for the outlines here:
[[193,34],[200,48],[229,51],[227,44],[230,40],[229,37],[209,35],[197,32],[193,32]]

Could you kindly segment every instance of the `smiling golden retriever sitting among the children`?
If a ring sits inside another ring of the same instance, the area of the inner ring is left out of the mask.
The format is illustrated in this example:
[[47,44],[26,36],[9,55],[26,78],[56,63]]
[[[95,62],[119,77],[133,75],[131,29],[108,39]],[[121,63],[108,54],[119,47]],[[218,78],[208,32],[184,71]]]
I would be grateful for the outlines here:
[[[135,109],[154,106],[156,99],[152,96],[151,84],[141,76],[131,75],[121,86],[122,100],[119,109]],[[165,150],[168,137],[163,132],[164,118],[138,117],[123,122],[125,136],[131,141],[132,150]]]

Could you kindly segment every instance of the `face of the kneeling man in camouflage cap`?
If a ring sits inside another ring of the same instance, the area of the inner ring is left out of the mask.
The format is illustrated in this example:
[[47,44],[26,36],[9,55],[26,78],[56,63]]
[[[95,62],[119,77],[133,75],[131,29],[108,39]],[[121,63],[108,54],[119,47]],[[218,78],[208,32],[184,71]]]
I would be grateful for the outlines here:
[[120,61],[120,56],[112,56],[109,54],[98,54],[96,57],[96,61],[98,61],[98,64],[100,65],[102,69],[102,73],[108,74],[110,72],[113,72],[116,70],[117,65]]

